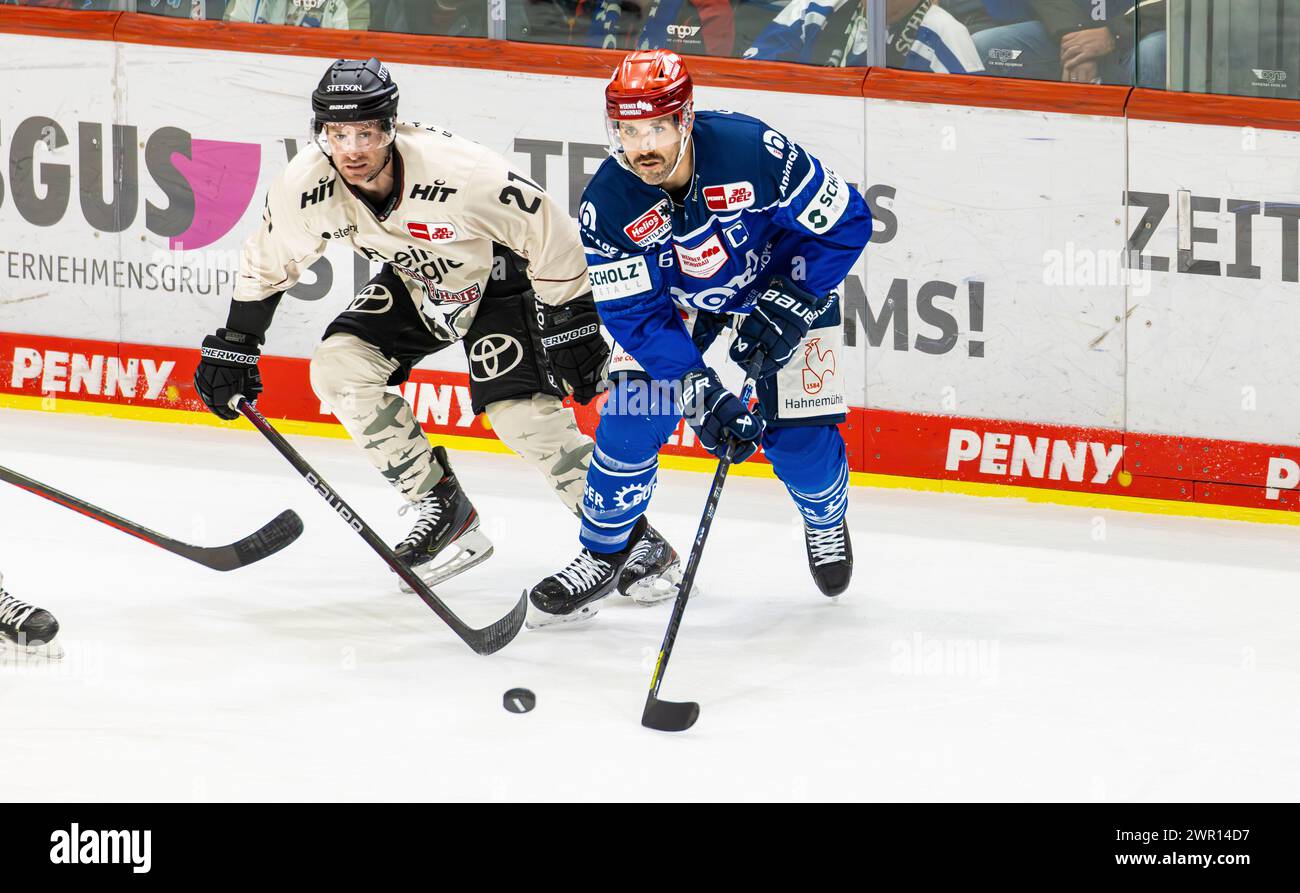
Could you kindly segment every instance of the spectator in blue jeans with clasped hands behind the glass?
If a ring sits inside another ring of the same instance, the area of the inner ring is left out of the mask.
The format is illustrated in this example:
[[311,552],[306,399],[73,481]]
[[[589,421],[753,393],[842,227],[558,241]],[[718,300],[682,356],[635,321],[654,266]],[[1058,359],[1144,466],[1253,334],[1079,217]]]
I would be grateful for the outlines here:
[[[1026,14],[1026,21],[975,30],[975,45],[991,74],[1165,88],[1165,0],[984,0],[983,5],[985,12],[1002,6],[1004,21],[1008,13]],[[1093,18],[1095,12],[1105,18]]]

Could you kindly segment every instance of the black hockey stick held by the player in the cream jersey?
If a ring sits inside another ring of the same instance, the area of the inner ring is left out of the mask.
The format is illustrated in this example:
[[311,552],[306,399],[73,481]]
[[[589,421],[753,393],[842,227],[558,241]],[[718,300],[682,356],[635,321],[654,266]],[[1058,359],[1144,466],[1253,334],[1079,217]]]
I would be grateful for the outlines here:
[[389,545],[384,542],[384,539],[381,539],[365,521],[361,520],[361,516],[358,515],[351,506],[343,502],[343,497],[341,497],[334,487],[326,484],[324,478],[321,478],[321,476],[317,474],[309,464],[307,464],[307,460],[299,455],[298,450],[290,446],[289,441],[286,441],[283,435],[281,435],[281,433],[277,432],[260,412],[257,412],[255,406],[248,403],[248,400],[243,396],[237,396],[230,403],[235,409],[243,413],[244,419],[252,422],[254,428],[261,432],[266,439],[270,441],[270,445],[276,447],[280,455],[287,459],[289,464],[303,476],[303,480],[321,495],[325,503],[338,512],[338,516],[347,521],[350,528],[361,536],[361,539],[364,539],[367,545],[369,545],[369,547],[384,559],[384,563],[393,568],[399,577],[406,580],[407,585],[415,590],[415,594],[419,595],[434,614],[442,617],[443,623],[451,627],[456,636],[464,640],[465,645],[472,647],[477,654],[491,654],[510,645],[511,640],[519,634],[519,630],[524,625],[524,615],[528,612],[526,594],[519,599],[519,603],[515,604],[510,614],[497,623],[490,627],[484,627],[482,629],[472,629],[464,620],[458,617],[451,608],[442,603],[442,599],[439,599],[433,590],[425,585],[424,580],[421,580],[415,571],[403,564],[402,559],[393,554]]

